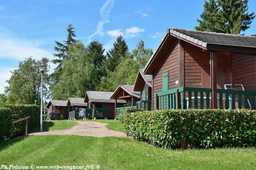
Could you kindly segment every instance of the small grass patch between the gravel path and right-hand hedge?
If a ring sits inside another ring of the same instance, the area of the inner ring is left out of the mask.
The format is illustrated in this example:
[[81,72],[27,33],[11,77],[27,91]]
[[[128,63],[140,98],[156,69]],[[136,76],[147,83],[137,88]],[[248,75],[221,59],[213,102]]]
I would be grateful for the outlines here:
[[120,123],[120,120],[113,120],[113,119],[97,119],[97,120],[79,120],[79,121],[96,121],[96,122],[100,122],[100,123],[108,123],[108,125],[106,125],[106,127],[110,130],[114,130],[114,131],[120,131],[120,132],[124,132],[124,125],[122,123]]

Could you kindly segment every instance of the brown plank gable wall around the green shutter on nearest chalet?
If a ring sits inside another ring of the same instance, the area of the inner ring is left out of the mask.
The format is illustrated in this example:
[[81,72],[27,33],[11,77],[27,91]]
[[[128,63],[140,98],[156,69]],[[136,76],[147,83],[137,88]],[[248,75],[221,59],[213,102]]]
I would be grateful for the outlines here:
[[[162,74],[168,71],[168,88],[177,88],[178,84],[178,39],[170,45],[170,50],[162,59],[162,62],[156,66],[153,73],[153,93],[162,91]],[[153,94],[152,94],[153,95]],[[155,98],[153,100],[153,107],[155,109]]]

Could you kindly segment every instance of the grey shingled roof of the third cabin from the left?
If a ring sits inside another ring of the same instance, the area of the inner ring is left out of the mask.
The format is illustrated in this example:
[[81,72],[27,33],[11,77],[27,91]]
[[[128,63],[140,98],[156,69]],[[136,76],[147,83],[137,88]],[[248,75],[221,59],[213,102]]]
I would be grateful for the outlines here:
[[[110,99],[110,96],[112,96],[112,94],[113,92],[87,91],[85,98],[88,97],[91,102],[115,103],[114,99]],[[126,101],[117,100],[117,103],[126,103]]]

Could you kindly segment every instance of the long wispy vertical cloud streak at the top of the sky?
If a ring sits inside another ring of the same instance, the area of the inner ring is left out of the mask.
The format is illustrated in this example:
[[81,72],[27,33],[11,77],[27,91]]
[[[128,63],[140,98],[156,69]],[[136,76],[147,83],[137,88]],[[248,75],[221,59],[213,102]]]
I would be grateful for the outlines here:
[[104,35],[104,33],[102,32],[103,25],[110,22],[109,17],[110,17],[110,12],[113,6],[114,6],[114,0],[106,0],[102,8],[100,8],[101,20],[98,21],[96,31],[92,35],[87,37],[88,41],[91,41],[92,37],[94,37],[95,35],[100,35],[100,36]]

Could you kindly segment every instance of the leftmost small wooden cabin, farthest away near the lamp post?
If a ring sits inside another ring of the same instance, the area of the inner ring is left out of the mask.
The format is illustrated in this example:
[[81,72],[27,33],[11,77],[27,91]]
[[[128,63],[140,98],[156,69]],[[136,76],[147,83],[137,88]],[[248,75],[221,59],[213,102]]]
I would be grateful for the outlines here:
[[65,100],[50,100],[46,105],[47,116],[46,120],[52,119],[68,119],[68,101]]

